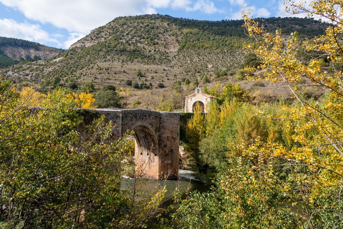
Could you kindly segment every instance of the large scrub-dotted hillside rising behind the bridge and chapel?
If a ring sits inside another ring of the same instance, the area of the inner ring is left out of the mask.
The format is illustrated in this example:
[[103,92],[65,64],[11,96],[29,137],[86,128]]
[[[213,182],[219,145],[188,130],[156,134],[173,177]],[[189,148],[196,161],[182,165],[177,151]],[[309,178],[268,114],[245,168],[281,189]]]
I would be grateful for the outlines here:
[[[262,19],[258,21],[262,23]],[[192,93],[198,83],[207,87],[220,83],[223,87],[228,82],[241,83],[249,93],[262,91],[270,98],[286,95],[275,85],[263,87],[237,80],[236,71],[242,68],[246,55],[241,46],[249,41],[242,24],[242,20],[210,22],[159,14],[120,17],[53,59],[21,63],[3,73],[39,85],[42,92],[57,85],[75,91],[89,81],[96,89],[115,85],[127,107],[152,110],[165,110],[170,103],[181,108],[180,85],[186,79],[190,84],[184,85],[183,95]],[[281,28],[285,38],[294,30],[300,38],[312,38],[326,28],[313,19],[300,18],[269,18],[263,24],[271,32]],[[51,83],[52,79],[58,83]],[[132,82],[140,86],[133,88]],[[158,87],[161,83],[164,88]]]

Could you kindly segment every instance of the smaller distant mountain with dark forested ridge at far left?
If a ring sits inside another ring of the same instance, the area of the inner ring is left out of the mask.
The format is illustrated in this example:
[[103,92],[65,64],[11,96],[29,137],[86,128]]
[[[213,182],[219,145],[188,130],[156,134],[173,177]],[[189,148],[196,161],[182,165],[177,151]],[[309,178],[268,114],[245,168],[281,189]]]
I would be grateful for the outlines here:
[[63,51],[31,41],[0,37],[0,67],[18,64],[20,61],[49,59]]

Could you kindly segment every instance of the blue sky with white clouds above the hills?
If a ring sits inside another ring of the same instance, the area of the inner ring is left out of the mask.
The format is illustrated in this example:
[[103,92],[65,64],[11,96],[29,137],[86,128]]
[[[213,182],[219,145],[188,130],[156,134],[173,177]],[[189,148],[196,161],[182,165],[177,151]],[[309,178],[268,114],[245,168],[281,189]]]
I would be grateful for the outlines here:
[[245,4],[254,18],[292,16],[281,0],[0,0],[0,36],[68,49],[118,16],[236,20]]

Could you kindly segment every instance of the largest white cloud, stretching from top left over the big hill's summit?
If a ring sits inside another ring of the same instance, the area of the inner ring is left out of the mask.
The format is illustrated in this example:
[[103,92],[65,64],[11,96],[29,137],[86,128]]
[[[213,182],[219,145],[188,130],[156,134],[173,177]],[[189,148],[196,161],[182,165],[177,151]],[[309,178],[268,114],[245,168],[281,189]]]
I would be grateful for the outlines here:
[[215,13],[209,0],[0,0],[7,7],[22,12],[26,18],[51,23],[69,32],[89,33],[118,16],[156,13],[156,8],[171,7],[186,11]]

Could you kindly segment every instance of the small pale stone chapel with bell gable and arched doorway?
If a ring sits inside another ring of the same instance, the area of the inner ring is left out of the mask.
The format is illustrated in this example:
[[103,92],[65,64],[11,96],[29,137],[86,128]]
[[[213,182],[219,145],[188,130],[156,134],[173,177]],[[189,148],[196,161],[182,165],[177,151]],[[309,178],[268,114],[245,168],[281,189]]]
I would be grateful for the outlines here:
[[197,102],[199,102],[201,106],[202,112],[206,111],[206,106],[208,102],[210,102],[213,99],[218,99],[215,96],[202,93],[201,87],[197,87],[194,94],[185,96],[186,102],[185,102],[185,112],[193,112],[193,108],[197,105]]

